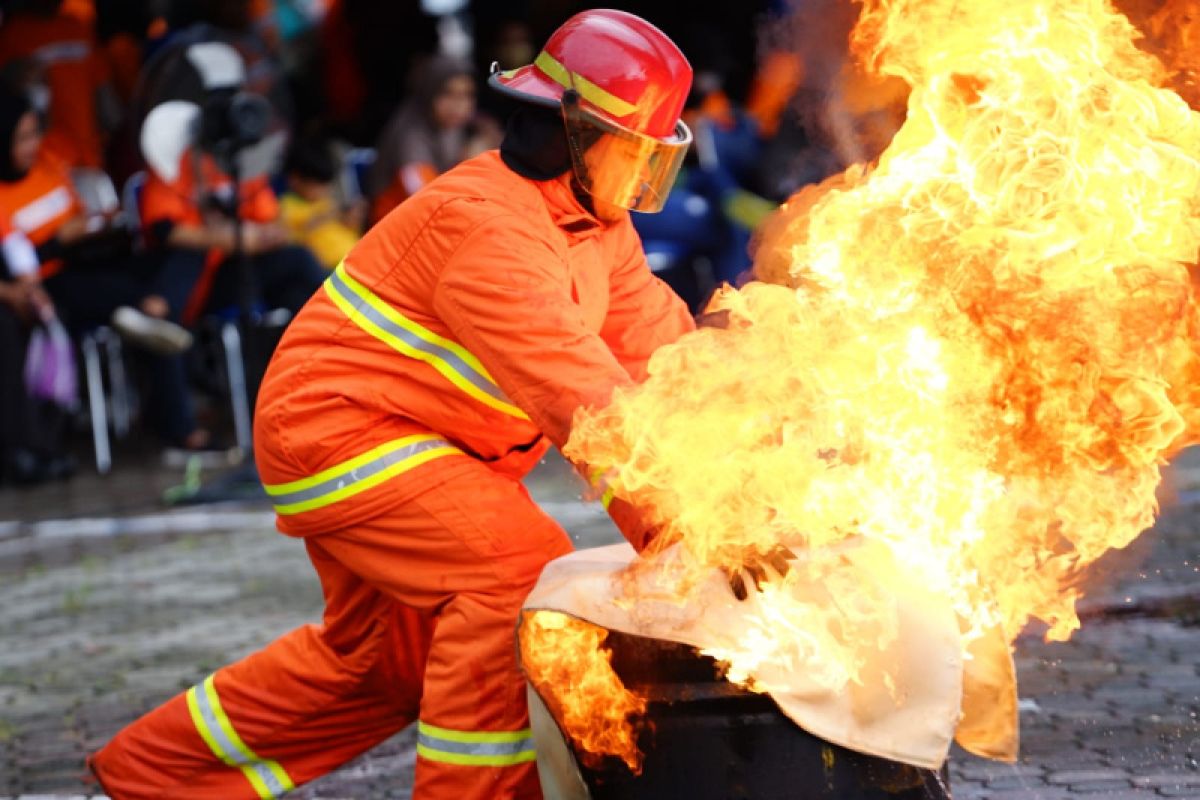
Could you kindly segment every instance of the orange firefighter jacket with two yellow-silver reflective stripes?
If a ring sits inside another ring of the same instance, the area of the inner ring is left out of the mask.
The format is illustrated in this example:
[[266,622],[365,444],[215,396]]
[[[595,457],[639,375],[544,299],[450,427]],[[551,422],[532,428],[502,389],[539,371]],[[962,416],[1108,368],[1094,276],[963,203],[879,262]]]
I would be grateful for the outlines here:
[[276,349],[256,455],[280,529],[354,524],[463,463],[379,459],[401,446],[523,475],[577,408],[607,403],[691,329],[628,216],[601,224],[562,182],[521,178],[496,151],[472,158],[372,228]]

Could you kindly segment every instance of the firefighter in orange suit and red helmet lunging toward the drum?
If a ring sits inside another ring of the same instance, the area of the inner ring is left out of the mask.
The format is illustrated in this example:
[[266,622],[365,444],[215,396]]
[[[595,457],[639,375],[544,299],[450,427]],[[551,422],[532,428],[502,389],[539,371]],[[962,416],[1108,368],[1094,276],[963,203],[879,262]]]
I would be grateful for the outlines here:
[[[277,796],[414,721],[414,798],[540,796],[515,625],[571,546],[520,479],[694,327],[628,213],[661,207],[691,142],[691,67],[643,19],[586,11],[491,84],[523,101],[499,151],[372,228],[262,385],[259,471],[324,624],[116,734],[90,759],[110,796]],[[636,506],[607,507],[644,547]]]

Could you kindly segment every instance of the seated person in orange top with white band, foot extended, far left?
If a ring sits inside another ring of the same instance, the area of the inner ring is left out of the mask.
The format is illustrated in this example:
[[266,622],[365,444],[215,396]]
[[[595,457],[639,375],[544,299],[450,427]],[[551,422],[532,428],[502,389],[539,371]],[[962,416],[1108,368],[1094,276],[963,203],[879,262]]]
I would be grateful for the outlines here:
[[74,330],[112,323],[124,337],[163,354],[191,335],[163,319],[167,303],[121,269],[127,235],[84,213],[64,162],[42,148],[37,113],[0,91],[0,225],[37,248],[46,291]]

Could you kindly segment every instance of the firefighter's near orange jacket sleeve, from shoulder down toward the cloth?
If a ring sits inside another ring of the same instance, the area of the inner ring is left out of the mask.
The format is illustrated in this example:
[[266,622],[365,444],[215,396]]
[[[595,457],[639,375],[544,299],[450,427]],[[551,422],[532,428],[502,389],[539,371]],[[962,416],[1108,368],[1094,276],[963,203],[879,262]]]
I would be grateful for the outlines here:
[[[562,257],[517,217],[488,219],[468,235],[438,279],[433,308],[559,449],[576,409],[602,407],[613,389],[631,383],[605,339],[584,325]],[[587,475],[586,464],[576,467]],[[641,551],[652,531],[640,511],[620,499],[605,506]]]

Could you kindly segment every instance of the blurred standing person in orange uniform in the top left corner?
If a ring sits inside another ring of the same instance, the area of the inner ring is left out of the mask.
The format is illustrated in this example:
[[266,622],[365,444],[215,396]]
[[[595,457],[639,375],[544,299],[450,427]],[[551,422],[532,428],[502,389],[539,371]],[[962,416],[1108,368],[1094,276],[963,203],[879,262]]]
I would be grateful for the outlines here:
[[0,65],[47,114],[46,149],[68,166],[98,168],[120,106],[92,31],[61,6],[62,0],[28,0],[6,17]]

